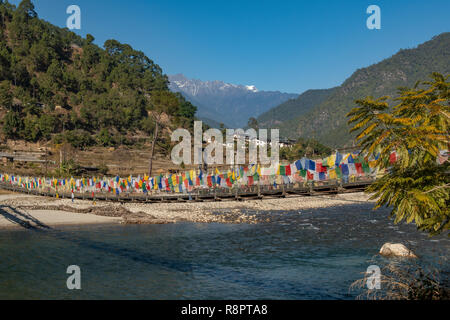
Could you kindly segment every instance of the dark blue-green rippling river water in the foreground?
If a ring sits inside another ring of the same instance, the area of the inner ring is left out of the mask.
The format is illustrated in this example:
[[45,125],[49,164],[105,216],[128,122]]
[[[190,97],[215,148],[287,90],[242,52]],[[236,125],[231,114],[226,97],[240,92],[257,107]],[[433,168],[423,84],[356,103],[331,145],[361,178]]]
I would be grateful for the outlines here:
[[[259,213],[259,224],[1,230],[0,299],[355,299],[351,283],[385,242],[421,261],[449,256],[446,236],[371,208]],[[81,290],[66,287],[70,265]]]

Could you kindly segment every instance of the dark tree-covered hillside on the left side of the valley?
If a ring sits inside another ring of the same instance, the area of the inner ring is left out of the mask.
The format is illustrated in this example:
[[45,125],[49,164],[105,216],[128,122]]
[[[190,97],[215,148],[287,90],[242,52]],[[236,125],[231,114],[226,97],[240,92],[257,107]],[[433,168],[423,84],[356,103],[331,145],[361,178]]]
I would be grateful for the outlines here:
[[196,108],[168,89],[144,53],[104,47],[38,18],[34,5],[0,0],[0,121],[4,139],[75,147],[148,139],[155,123],[193,125]]

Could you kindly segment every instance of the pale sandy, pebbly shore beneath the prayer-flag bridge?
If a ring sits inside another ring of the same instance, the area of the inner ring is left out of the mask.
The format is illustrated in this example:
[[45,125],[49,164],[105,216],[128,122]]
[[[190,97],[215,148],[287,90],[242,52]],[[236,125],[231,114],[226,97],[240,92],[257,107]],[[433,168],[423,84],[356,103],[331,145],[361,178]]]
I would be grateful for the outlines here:
[[0,194],[0,228],[48,228],[82,224],[163,224],[183,221],[259,223],[258,212],[300,211],[367,203],[363,193],[250,201],[113,203]]

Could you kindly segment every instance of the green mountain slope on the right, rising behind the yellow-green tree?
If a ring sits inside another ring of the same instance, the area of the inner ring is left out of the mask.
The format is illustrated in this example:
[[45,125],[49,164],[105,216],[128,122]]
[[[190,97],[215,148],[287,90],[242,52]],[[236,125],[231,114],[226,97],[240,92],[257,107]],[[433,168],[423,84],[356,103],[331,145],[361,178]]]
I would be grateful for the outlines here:
[[337,88],[309,90],[262,114],[262,127],[279,128],[289,138],[315,138],[332,146],[353,143],[346,114],[355,100],[396,96],[399,87],[429,80],[432,72],[450,74],[450,33],[442,33],[417,48],[402,49],[392,57],[357,70]]

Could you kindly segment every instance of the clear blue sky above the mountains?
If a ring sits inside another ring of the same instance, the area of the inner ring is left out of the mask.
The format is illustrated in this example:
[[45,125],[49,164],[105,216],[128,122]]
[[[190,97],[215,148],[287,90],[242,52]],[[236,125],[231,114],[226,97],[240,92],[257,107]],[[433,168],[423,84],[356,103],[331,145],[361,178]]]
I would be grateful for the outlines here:
[[[19,1],[10,1],[17,4]],[[65,27],[71,4],[82,29],[131,44],[166,74],[301,93],[340,85],[367,67],[450,31],[450,1],[35,0],[38,15]],[[366,9],[381,8],[381,30]]]

